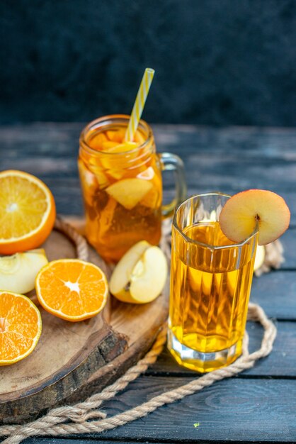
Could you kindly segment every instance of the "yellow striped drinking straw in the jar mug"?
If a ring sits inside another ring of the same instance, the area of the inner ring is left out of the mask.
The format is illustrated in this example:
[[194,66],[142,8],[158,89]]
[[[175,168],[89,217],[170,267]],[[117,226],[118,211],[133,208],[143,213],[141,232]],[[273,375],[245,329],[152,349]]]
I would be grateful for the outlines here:
[[145,101],[147,99],[150,85],[154,76],[154,70],[151,68],[146,68],[144,75],[142,77],[142,82],[140,84],[139,91],[137,91],[137,97],[135,100],[132,113],[130,115],[130,121],[127,126],[127,131],[125,132],[125,140],[132,142],[134,140],[135,132],[137,131],[137,126],[139,124],[142,112],[144,109]]

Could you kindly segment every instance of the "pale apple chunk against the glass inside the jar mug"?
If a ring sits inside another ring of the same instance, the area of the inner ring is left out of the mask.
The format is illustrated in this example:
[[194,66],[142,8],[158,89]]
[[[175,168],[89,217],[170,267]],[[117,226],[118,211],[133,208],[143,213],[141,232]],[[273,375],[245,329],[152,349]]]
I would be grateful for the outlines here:
[[106,188],[106,192],[127,210],[133,209],[152,189],[152,183],[142,179],[123,179]]

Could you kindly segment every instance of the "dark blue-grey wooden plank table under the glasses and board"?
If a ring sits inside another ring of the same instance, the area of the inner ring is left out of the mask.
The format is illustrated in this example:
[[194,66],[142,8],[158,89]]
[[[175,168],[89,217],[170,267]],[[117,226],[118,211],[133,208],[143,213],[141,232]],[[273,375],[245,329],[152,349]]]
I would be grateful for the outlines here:
[[[33,123],[0,127],[1,170],[31,172],[55,195],[57,211],[83,214],[76,169],[79,123]],[[35,438],[25,443],[295,443],[296,442],[296,129],[154,126],[159,151],[175,152],[186,165],[188,194],[220,190],[271,189],[291,210],[283,235],[285,263],[254,279],[251,300],[278,327],[273,352],[252,370],[224,379],[149,416],[101,435]],[[171,195],[169,177],[166,187]],[[251,350],[261,328],[248,323]],[[147,401],[198,377],[164,351],[144,376],[117,399],[108,415]],[[196,427],[194,424],[199,423]]]

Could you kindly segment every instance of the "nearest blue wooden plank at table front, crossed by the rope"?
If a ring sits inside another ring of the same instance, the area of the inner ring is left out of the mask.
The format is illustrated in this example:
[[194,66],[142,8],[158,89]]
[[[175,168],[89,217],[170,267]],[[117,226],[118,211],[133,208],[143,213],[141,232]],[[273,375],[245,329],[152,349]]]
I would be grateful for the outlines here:
[[[108,416],[119,414],[136,406],[140,398],[147,401],[189,381],[189,377],[139,377],[127,392],[106,402],[104,411]],[[101,439],[120,443],[295,443],[293,394],[295,380],[224,379],[139,421],[106,431]]]

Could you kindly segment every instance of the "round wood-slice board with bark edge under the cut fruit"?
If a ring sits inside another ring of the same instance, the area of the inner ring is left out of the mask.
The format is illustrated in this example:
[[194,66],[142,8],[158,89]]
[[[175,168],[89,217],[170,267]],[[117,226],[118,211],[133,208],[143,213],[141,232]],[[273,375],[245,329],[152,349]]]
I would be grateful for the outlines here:
[[[76,257],[66,235],[52,231],[43,245],[48,260]],[[89,260],[110,269],[89,247]],[[87,321],[63,321],[39,306],[42,335],[33,353],[0,367],[0,422],[22,423],[53,406],[84,400],[123,374],[151,347],[168,313],[169,278],[150,304],[124,304],[112,296],[103,313]],[[30,294],[34,301],[35,295]]]

